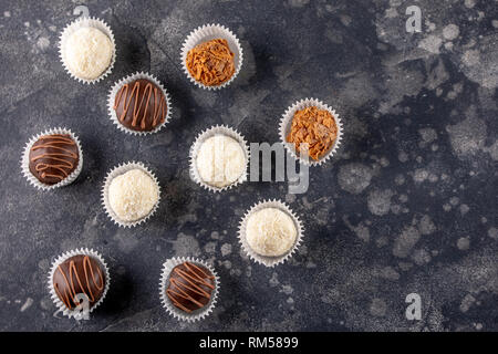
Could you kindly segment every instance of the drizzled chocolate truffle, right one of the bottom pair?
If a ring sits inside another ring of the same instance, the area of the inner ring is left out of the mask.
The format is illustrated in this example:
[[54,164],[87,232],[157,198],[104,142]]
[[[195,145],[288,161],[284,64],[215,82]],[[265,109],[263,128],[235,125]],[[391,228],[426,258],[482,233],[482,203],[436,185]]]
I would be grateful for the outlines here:
[[215,275],[208,269],[184,262],[173,269],[166,294],[176,308],[190,313],[206,306],[214,290]]

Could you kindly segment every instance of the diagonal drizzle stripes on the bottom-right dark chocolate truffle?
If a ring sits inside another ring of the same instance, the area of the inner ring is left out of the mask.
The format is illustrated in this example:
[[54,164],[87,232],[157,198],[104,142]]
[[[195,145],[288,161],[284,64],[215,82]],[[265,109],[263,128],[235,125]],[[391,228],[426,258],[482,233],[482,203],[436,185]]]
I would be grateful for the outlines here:
[[207,280],[203,279],[203,277],[200,277],[199,273],[209,280],[214,280],[215,277],[206,274],[199,267],[197,267],[193,263],[185,262],[184,266],[185,266],[185,268],[187,268],[187,271],[179,270],[179,269],[174,270],[174,272],[184,282],[177,281],[176,279],[172,279],[172,278],[169,279],[169,283],[174,284],[178,291],[167,289],[166,293],[177,308],[190,313],[191,310],[185,308],[181,303],[179,303],[178,298],[188,300],[191,303],[196,304],[197,306],[203,308],[205,304],[203,304],[201,302],[195,300],[191,295],[189,295],[187,290],[190,290],[191,292],[209,300],[211,296],[210,293],[208,293],[203,288],[200,288],[200,285],[207,287],[212,290],[215,289],[215,285],[212,285]]

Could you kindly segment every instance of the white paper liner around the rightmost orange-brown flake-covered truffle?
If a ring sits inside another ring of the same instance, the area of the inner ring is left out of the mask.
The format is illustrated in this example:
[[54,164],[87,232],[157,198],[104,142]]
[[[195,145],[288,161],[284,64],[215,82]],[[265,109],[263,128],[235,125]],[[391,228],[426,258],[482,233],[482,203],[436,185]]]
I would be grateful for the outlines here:
[[[303,110],[303,108],[310,107],[310,106],[317,106],[320,110],[329,111],[332,114],[332,116],[334,117],[335,125],[338,126],[338,137],[334,142],[334,145],[329,149],[329,152],[325,155],[321,156],[318,160],[314,160],[309,156],[308,156],[308,160],[304,158],[301,158],[298,155],[298,153],[295,152],[294,144],[287,142],[287,136],[290,133],[294,113],[299,110]],[[326,162],[329,158],[331,158],[338,150],[339,146],[341,145],[342,123],[341,123],[341,118],[339,118],[339,114],[335,113],[335,110],[332,110],[330,106],[328,106],[320,100],[304,98],[304,100],[295,102],[292,106],[290,106],[286,110],[286,113],[282,115],[282,118],[280,121],[279,135],[280,135],[281,143],[283,144],[283,146],[287,148],[287,150],[293,158],[298,159],[299,162],[301,162],[302,164],[305,164],[308,166],[320,166],[324,162]]]

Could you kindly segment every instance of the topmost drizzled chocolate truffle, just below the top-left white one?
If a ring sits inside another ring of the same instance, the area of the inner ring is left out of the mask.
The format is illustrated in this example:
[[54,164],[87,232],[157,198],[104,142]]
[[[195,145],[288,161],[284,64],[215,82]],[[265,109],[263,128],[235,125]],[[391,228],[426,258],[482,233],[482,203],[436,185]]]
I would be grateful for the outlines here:
[[166,118],[167,103],[163,90],[146,79],[126,83],[114,101],[117,121],[136,132],[151,132]]

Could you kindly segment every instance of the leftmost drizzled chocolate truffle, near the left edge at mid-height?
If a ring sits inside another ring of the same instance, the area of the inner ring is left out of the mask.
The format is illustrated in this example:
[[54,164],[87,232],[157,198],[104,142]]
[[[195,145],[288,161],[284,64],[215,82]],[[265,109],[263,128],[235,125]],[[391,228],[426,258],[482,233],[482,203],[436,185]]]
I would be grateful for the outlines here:
[[30,149],[30,171],[42,184],[55,185],[71,175],[80,160],[77,145],[68,134],[41,136]]

